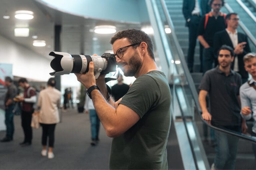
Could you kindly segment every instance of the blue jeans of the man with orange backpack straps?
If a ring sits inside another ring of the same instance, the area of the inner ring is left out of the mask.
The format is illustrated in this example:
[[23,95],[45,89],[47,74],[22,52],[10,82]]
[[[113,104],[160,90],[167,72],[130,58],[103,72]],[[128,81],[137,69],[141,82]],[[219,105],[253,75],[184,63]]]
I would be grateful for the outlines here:
[[213,68],[215,63],[214,49],[213,47],[203,49],[203,73]]

